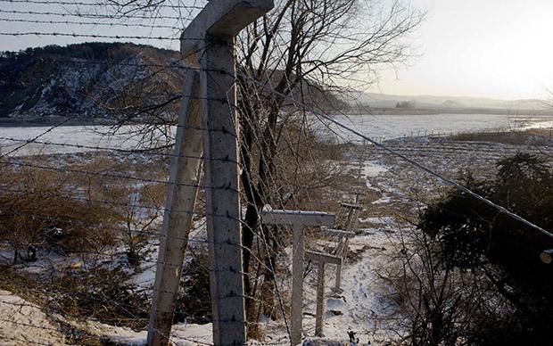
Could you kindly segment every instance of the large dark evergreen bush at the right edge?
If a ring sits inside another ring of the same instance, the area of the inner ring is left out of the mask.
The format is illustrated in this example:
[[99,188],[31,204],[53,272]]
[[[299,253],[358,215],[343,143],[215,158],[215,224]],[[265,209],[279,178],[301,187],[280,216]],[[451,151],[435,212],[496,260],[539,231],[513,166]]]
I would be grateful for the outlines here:
[[[470,174],[463,178],[475,193],[553,229],[553,172],[539,157],[518,153],[499,161],[498,174],[491,180],[476,180]],[[442,340],[427,338],[428,344],[445,341],[448,333],[462,335],[461,340],[470,344],[550,342],[553,267],[539,258],[541,251],[553,248],[549,236],[457,190],[430,205],[419,228],[423,234],[416,237],[415,252],[420,267],[411,271],[419,282],[417,301],[424,305],[435,292],[442,294],[438,301],[450,300],[435,311],[428,309],[441,323],[451,322],[442,323]],[[436,277],[442,277],[440,287],[435,287]],[[437,323],[430,325],[435,328]],[[452,332],[461,325],[462,333]]]

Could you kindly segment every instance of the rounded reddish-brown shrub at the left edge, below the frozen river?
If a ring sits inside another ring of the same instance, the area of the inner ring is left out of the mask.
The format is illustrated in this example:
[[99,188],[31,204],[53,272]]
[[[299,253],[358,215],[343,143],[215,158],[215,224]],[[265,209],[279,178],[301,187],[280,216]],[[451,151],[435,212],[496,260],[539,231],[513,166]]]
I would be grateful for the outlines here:
[[[57,248],[93,251],[111,245],[117,215],[75,198],[70,177],[39,169],[4,169],[0,177],[0,242],[9,244],[16,262],[21,250]],[[28,258],[26,260],[32,260]]]

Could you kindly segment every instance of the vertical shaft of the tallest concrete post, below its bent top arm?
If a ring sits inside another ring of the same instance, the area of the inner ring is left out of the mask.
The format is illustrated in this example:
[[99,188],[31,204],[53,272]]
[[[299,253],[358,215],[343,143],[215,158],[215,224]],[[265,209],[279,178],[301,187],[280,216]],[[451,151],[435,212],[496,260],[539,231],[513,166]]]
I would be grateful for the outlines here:
[[[238,190],[238,128],[235,116],[234,38],[206,37],[202,67],[222,70],[217,77],[202,71],[206,220],[210,253],[213,343],[243,344],[245,314],[242,232]],[[217,100],[217,101],[214,101]],[[219,101],[220,100],[220,101]]]

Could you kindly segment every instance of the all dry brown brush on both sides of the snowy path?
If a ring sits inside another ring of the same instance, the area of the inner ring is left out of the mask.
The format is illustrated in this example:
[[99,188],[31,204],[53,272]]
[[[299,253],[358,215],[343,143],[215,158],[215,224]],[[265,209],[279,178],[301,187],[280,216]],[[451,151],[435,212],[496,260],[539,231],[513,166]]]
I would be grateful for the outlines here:
[[[392,225],[389,231],[395,232],[390,235],[396,240],[395,252],[390,252],[390,265],[380,271],[389,293],[387,302],[394,307],[388,320],[392,325],[387,327],[407,335],[403,343],[455,343],[470,338],[478,342],[497,336],[501,328],[517,326],[512,315],[517,308],[497,295],[497,283],[486,281],[480,269],[459,268],[447,257],[438,256],[441,240],[417,229],[417,212],[425,210],[421,202],[432,204],[442,190],[430,193],[427,177],[413,179],[405,167],[390,169],[385,178],[371,178],[367,185],[361,162],[376,160],[376,155],[364,157],[358,155],[360,148],[320,142],[311,135],[298,132],[293,125],[282,132],[275,156],[278,170],[270,181],[271,201],[277,208],[336,212],[337,226],[344,227],[340,202],[351,202],[359,193],[360,202],[371,206],[360,218],[395,218],[397,229]],[[259,162],[256,157],[259,152],[252,152],[253,162]],[[94,318],[144,330],[150,292],[131,279],[155,261],[151,253],[161,229],[166,194],[162,181],[167,179],[168,164],[169,160],[159,155],[108,152],[4,161],[0,167],[0,288],[64,317]],[[404,173],[405,177],[400,177]],[[391,181],[403,184],[405,179],[409,185],[388,185]],[[394,202],[371,204],[383,193]],[[200,215],[202,199],[200,194]],[[247,203],[246,196],[243,203]],[[379,226],[366,221],[361,227]],[[307,237],[319,235],[310,230]],[[321,243],[332,250],[332,243]],[[291,235],[285,229],[262,228],[256,233],[249,276],[251,321],[262,315],[283,319],[282,304],[288,306],[290,299],[282,290],[290,278],[286,255],[290,245]],[[351,252],[348,264],[364,259],[366,251],[386,251],[367,246]],[[206,254],[205,243],[189,243],[175,322],[210,321]],[[306,277],[311,270],[312,266],[307,266]],[[490,323],[493,318],[495,325]],[[249,325],[250,335],[261,339],[262,329],[255,323]],[[90,337],[78,328],[66,330],[77,343]]]

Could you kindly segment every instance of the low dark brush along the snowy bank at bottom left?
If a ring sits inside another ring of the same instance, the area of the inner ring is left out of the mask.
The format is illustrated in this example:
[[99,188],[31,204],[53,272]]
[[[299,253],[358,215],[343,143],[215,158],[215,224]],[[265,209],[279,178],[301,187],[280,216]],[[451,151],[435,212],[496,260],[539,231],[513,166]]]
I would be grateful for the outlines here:
[[[4,266],[0,276],[0,289],[37,304],[47,315],[61,314],[77,321],[93,319],[136,330],[147,325],[150,297],[128,284],[130,275],[120,267],[98,264],[87,269],[67,268],[45,278]],[[73,337],[82,334],[74,329],[65,332]]]

